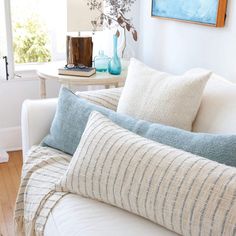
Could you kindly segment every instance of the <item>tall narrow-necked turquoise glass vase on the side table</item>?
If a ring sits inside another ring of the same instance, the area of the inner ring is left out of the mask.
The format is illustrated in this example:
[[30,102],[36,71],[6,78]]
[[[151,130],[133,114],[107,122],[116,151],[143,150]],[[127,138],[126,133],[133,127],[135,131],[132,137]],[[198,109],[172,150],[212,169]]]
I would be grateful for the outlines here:
[[121,73],[121,62],[120,58],[118,57],[117,52],[117,41],[118,37],[117,35],[113,36],[113,57],[111,58],[109,65],[108,65],[108,71],[112,75],[120,75]]

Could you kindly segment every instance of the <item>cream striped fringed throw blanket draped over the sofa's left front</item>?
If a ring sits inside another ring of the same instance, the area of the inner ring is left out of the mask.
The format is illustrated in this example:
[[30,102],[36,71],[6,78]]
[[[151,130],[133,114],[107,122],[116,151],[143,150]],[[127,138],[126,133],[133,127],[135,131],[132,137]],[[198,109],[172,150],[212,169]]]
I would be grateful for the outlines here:
[[51,209],[67,194],[54,189],[70,160],[71,156],[51,148],[30,150],[15,207],[16,235],[43,235]]

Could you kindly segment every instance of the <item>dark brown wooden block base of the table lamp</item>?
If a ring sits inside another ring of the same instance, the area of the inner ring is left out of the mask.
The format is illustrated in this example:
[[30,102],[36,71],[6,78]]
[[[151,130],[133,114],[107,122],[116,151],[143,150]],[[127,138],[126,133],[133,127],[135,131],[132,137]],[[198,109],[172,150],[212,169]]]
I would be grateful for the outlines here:
[[67,36],[67,64],[92,67],[92,37]]

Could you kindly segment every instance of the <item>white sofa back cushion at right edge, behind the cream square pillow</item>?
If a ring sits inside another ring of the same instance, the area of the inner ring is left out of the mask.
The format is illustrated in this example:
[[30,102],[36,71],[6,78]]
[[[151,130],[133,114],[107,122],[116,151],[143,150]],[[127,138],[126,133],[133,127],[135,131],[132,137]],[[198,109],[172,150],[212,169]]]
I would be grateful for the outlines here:
[[[191,70],[191,73],[202,69]],[[203,93],[194,132],[236,134],[236,84],[213,74]]]

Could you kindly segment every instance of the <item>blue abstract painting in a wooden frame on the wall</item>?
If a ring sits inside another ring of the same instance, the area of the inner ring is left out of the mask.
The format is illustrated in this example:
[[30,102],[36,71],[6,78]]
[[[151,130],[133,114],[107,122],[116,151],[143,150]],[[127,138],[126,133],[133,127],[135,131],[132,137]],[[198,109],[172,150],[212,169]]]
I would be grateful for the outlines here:
[[152,0],[152,16],[223,27],[226,6],[227,0]]

